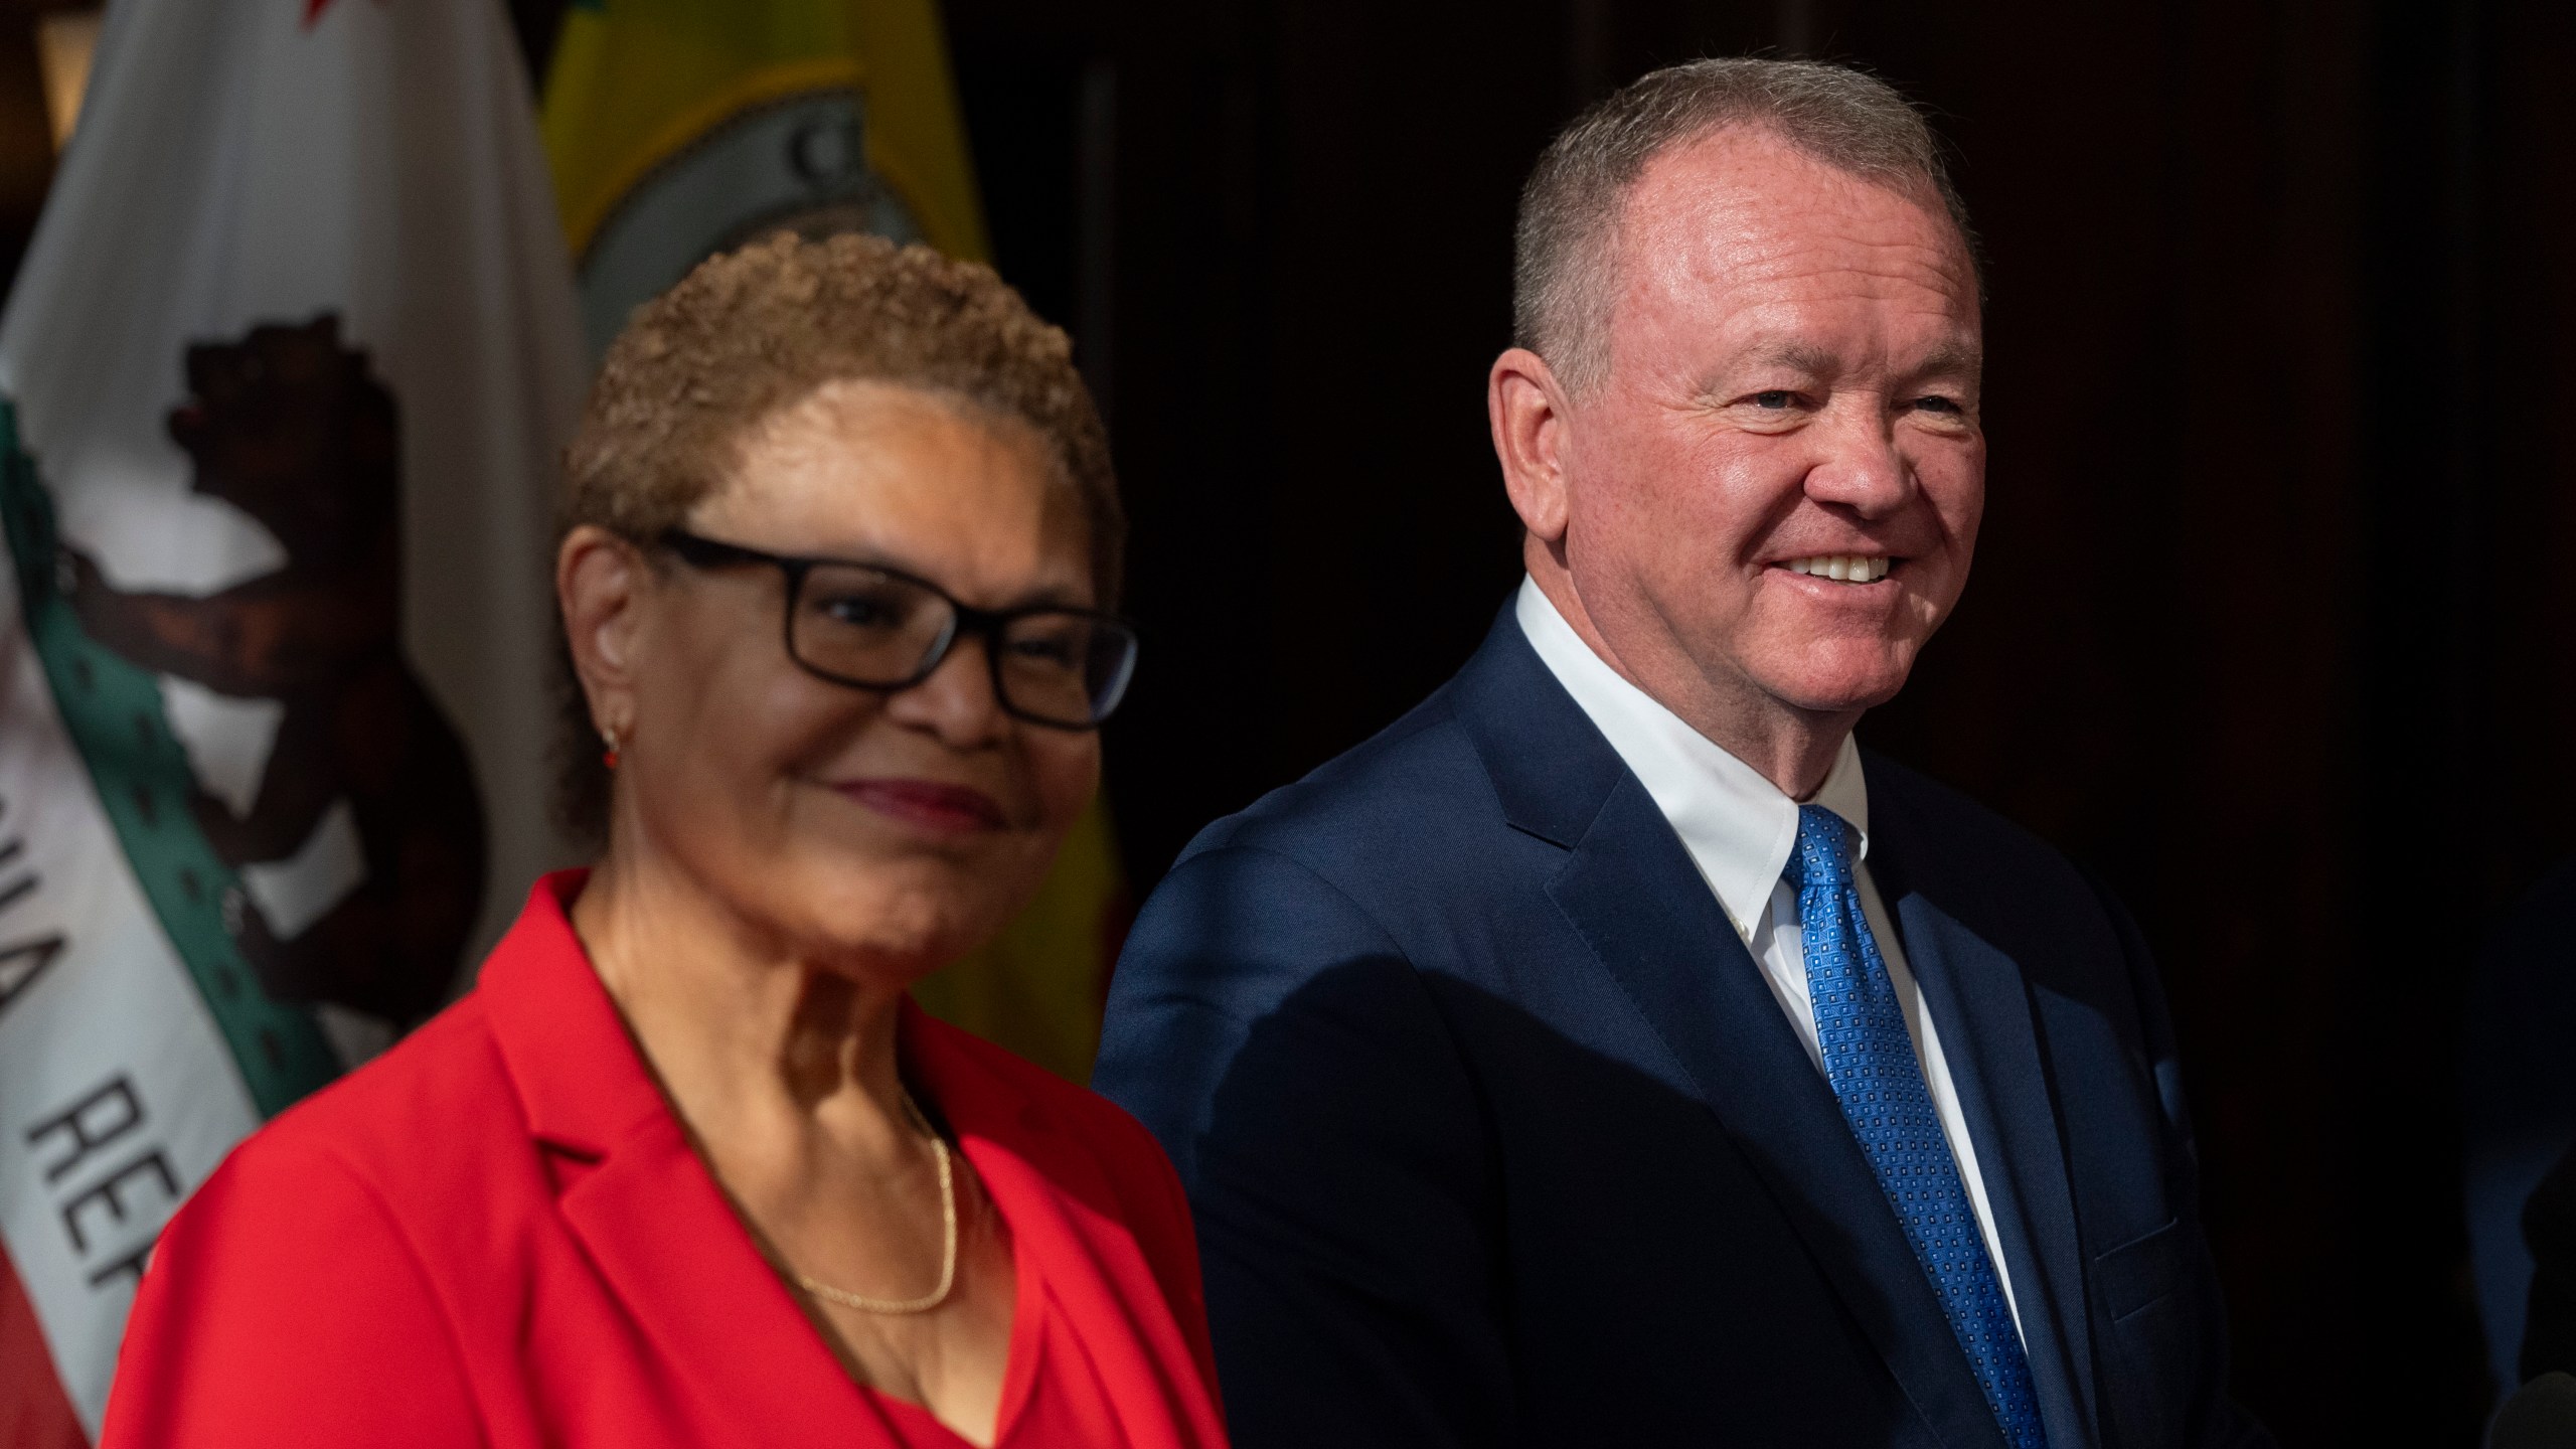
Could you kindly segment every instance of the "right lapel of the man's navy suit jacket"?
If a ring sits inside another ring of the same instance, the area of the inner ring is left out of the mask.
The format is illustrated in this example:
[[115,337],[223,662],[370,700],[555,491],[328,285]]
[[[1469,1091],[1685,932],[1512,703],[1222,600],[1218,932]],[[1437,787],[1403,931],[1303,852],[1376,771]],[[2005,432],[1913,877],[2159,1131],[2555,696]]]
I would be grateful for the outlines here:
[[1880,820],[1873,830],[1870,874],[1896,915],[1924,1011],[1950,1060],[1968,1137],[1978,1145],[1978,1171],[2012,1271],[2050,1444],[2076,1449],[2069,1428],[2079,1428],[2084,1444],[2099,1444],[2074,1189],[2027,980],[2009,954],[1911,890],[1922,879],[1909,869],[1911,861],[1937,846],[1909,830],[1911,817],[1893,799],[1891,810],[1880,810],[1878,802],[1891,792],[1878,789],[1878,779],[1870,784],[1873,815]]

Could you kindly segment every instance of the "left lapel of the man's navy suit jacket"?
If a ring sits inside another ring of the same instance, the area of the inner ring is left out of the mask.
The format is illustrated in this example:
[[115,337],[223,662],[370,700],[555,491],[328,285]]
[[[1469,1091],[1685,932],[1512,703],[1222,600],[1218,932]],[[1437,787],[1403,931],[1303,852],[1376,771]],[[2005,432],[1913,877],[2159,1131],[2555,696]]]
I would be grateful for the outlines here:
[[[1607,750],[1597,735],[1592,748]],[[1620,771],[1548,892],[1680,1060],[1917,1413],[1945,1444],[2002,1446],[1842,1106],[1646,786]]]

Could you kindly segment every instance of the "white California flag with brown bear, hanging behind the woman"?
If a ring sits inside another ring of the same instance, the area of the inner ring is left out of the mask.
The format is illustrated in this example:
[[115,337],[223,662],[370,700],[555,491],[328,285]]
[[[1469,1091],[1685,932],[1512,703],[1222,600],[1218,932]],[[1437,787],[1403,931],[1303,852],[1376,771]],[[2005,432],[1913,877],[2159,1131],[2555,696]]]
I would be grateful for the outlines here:
[[0,320],[0,1444],[95,1436],[178,1201],[559,864],[582,374],[500,0],[108,5]]

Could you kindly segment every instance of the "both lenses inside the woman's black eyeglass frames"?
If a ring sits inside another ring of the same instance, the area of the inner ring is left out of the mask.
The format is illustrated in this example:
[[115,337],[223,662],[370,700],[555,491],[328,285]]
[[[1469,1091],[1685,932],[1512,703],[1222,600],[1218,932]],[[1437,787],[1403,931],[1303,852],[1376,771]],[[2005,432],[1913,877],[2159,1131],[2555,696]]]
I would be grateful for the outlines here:
[[[930,588],[850,565],[814,565],[788,616],[788,647],[811,670],[876,688],[922,678],[956,611]],[[1054,724],[1097,724],[1126,691],[1136,637],[1090,614],[1023,614],[1002,627],[1002,704]]]

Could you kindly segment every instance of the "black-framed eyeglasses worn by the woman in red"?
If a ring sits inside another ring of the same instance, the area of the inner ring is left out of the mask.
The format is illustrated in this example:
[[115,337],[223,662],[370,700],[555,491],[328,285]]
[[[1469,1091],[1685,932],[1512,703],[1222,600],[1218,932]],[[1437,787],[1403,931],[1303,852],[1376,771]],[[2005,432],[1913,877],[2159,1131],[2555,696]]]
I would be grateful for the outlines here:
[[770,554],[685,529],[662,547],[701,570],[775,567],[786,575],[786,645],[814,678],[894,694],[930,678],[963,637],[984,639],[992,696],[1056,730],[1095,730],[1136,673],[1136,629],[1097,608],[976,608],[884,565]]

